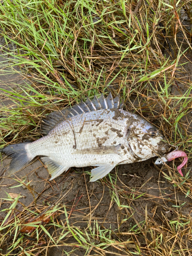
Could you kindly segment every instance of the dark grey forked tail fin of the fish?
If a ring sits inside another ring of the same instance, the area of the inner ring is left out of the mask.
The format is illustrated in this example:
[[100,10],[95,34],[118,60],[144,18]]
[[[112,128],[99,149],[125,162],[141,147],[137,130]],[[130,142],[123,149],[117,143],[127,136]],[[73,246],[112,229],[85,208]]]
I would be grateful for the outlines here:
[[34,157],[29,154],[26,150],[26,145],[28,142],[13,144],[6,146],[1,150],[6,155],[12,157],[11,163],[8,169],[7,174],[12,175],[17,170],[22,169],[25,165],[27,165]]

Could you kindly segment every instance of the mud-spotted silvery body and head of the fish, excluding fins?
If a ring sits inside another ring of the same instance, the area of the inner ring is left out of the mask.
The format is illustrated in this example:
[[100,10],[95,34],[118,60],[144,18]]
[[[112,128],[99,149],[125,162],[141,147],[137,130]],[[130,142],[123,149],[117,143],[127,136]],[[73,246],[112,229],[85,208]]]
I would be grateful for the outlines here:
[[[154,129],[156,137],[148,130]],[[95,166],[143,161],[166,152],[159,131],[141,117],[124,110],[98,110],[58,124],[47,136],[28,144],[33,157],[44,155],[63,166]],[[104,146],[120,145],[117,154],[102,154]],[[160,145],[160,146],[159,146]],[[101,154],[91,151],[97,148]],[[82,151],[82,153],[80,152]],[[84,154],[88,151],[88,154]]]

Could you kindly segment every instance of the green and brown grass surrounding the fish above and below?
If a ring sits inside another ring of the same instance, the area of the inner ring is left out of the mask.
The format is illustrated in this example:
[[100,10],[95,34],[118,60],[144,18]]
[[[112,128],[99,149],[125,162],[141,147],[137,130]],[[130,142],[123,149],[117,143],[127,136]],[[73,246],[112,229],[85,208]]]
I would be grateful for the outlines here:
[[[51,111],[111,91],[124,99],[125,109],[160,127],[166,140],[190,159],[190,17],[189,1],[4,1],[1,146],[36,140],[42,118]],[[23,82],[5,82],[11,74]],[[49,255],[62,248],[62,255],[190,255],[190,162],[185,177],[175,169],[174,164],[162,167],[153,191],[150,178],[127,186],[118,169],[97,182],[95,194],[83,176],[82,192],[70,188],[73,199],[61,202],[61,191],[53,205],[35,199],[29,181],[16,179],[34,201],[22,205],[19,197],[2,199],[0,243],[2,248],[7,243],[7,249],[0,254]],[[33,232],[20,232],[26,217],[42,212],[49,223],[32,221]]]

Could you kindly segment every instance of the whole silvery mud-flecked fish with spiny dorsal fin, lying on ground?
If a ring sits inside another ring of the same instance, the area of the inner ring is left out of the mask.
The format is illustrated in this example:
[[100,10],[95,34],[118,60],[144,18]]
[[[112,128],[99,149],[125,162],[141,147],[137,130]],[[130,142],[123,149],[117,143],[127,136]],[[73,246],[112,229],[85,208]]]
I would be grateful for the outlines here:
[[122,110],[120,98],[113,99],[111,93],[49,114],[41,129],[46,136],[3,148],[12,157],[9,175],[34,157],[44,156],[41,160],[51,180],[72,166],[98,166],[91,172],[91,181],[96,181],[118,164],[144,161],[168,150],[160,131],[139,115]]

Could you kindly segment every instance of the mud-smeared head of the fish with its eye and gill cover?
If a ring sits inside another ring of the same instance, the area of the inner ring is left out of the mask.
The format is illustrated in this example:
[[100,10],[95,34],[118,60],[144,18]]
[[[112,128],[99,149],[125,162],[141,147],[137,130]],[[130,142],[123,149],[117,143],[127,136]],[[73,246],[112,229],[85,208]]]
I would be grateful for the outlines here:
[[141,119],[130,126],[127,142],[139,161],[162,156],[168,150],[160,131],[151,123]]

